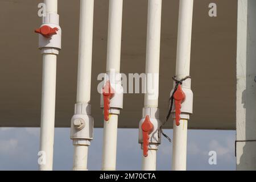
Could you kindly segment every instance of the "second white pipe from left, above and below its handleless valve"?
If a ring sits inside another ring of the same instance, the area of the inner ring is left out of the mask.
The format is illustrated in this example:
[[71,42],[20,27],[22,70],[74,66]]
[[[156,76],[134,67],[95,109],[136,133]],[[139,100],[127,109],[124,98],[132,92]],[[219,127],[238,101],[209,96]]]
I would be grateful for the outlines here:
[[[80,1],[77,104],[90,102],[94,0]],[[90,127],[90,126],[85,126]],[[86,132],[86,131],[84,131]],[[80,139],[77,139],[80,140]],[[87,170],[88,145],[74,144],[73,170]]]

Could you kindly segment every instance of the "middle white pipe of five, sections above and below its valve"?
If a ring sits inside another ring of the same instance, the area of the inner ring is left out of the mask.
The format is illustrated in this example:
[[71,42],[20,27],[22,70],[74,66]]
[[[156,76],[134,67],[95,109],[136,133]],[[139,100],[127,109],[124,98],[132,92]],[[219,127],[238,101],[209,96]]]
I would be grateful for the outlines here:
[[[107,73],[113,71],[116,73],[120,72],[122,9],[122,0],[109,1]],[[117,157],[117,123],[117,114],[111,114],[109,121],[104,121],[102,170],[115,170]]]

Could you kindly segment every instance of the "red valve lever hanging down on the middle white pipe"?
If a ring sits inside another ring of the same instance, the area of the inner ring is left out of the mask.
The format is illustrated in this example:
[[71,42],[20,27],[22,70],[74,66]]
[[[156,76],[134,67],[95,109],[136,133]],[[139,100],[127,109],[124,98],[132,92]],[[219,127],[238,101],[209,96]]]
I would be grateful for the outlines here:
[[110,86],[110,82],[107,81],[103,88],[103,101],[104,101],[104,119],[109,121],[109,109],[110,98],[114,96],[114,89]]

